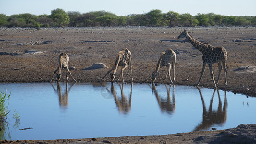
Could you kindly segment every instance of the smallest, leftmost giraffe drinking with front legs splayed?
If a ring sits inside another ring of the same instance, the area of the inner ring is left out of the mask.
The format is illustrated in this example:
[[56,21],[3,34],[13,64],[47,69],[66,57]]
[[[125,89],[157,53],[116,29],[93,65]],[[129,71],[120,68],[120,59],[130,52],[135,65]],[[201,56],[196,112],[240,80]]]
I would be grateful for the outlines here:
[[[60,82],[60,79],[61,79],[61,68],[65,69],[66,70],[66,78],[67,78],[67,81],[68,81],[68,73],[71,75],[71,73],[69,72],[69,68],[68,68],[68,62],[69,62],[69,57],[66,53],[61,53],[60,56],[59,56],[59,65],[57,67],[57,69],[54,71],[51,79],[50,79],[50,83],[52,81],[52,78],[54,76],[55,73],[57,73],[57,76],[56,76],[56,80],[58,82]],[[57,72],[58,71],[58,72]],[[73,78],[73,76],[71,75],[71,77]],[[75,82],[77,82],[74,78],[73,80]]]

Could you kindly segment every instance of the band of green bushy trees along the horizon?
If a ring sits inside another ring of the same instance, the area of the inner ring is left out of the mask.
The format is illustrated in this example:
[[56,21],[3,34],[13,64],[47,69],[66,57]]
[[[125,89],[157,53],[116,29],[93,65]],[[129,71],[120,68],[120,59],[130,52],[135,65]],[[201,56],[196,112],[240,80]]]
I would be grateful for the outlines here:
[[97,26],[246,26],[256,25],[256,16],[223,16],[214,13],[179,14],[169,11],[151,10],[142,14],[117,16],[106,11],[65,12],[54,9],[50,15],[30,13],[6,16],[0,14],[0,27],[97,27]]

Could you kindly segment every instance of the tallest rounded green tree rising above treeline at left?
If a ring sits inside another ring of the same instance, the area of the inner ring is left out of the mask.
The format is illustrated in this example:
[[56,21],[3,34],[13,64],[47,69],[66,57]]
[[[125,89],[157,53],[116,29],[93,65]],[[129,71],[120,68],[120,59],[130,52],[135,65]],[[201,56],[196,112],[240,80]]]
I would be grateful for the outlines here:
[[59,8],[51,11],[50,18],[53,19],[55,25],[59,27],[66,26],[70,23],[68,14],[64,10]]

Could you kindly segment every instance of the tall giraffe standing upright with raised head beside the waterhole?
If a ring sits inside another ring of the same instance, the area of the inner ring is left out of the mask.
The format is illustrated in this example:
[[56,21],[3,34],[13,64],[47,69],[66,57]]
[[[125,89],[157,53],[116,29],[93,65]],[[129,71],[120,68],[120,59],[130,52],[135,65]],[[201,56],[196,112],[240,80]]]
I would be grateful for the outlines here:
[[[196,83],[196,85],[199,85],[199,83],[201,81],[201,78],[205,71],[206,64],[208,64],[214,88],[217,88],[216,84],[218,84],[218,82],[219,82],[219,76],[220,76],[220,72],[222,70],[222,65],[224,68],[224,77],[225,77],[224,85],[227,85],[228,66],[226,64],[226,61],[227,61],[228,54],[227,54],[226,49],[224,47],[213,47],[212,45],[210,45],[208,43],[199,42],[199,41],[195,40],[195,38],[193,38],[190,34],[188,34],[186,29],[180,34],[180,36],[178,36],[178,38],[183,38],[183,37],[186,37],[190,41],[190,43],[203,54],[203,56],[202,56],[203,67],[202,67],[199,81]],[[213,71],[212,71],[213,63],[218,63],[218,66],[219,66],[219,75],[218,75],[218,79],[217,79],[216,83],[214,81],[214,76],[213,76]]]

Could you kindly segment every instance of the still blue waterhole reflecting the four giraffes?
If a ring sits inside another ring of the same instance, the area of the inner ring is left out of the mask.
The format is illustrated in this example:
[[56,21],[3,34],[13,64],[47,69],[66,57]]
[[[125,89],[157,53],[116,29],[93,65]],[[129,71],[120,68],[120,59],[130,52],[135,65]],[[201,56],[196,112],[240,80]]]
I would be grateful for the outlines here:
[[0,132],[7,140],[163,135],[256,123],[256,98],[207,88],[29,83],[0,89],[11,92],[9,124]]

